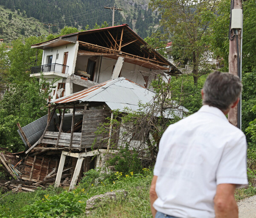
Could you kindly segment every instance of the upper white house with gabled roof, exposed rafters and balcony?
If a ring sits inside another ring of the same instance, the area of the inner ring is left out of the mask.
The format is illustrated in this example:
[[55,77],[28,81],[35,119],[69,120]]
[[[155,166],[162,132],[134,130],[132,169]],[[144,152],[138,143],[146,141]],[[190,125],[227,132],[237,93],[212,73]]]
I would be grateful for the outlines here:
[[38,43],[43,49],[42,65],[32,68],[30,76],[55,82],[52,91],[57,99],[117,77],[125,77],[148,87],[157,75],[180,71],[127,24],[67,34]]

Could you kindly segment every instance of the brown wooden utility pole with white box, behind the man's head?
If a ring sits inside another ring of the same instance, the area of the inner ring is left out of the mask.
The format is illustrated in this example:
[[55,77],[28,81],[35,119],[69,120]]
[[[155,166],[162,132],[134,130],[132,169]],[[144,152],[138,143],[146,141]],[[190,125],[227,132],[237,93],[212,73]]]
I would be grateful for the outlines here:
[[[241,79],[241,66],[242,66],[242,27],[243,27],[243,14],[242,14],[242,0],[231,0],[230,11],[230,32],[229,32],[229,72],[233,75],[238,75]],[[238,105],[231,109],[228,113],[228,120],[234,126],[241,129],[241,96]]]

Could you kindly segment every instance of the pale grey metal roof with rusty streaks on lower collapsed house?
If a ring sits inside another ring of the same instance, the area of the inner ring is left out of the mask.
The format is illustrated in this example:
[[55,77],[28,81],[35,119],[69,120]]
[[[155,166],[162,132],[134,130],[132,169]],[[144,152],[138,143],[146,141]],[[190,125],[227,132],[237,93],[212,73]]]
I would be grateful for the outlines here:
[[[139,110],[140,103],[146,104],[151,102],[155,95],[155,92],[127,80],[124,77],[120,77],[58,98],[51,101],[51,103],[105,102],[111,110],[127,112],[126,109],[133,111]],[[178,106],[173,111],[178,116],[183,116],[183,111],[188,112],[183,106]]]

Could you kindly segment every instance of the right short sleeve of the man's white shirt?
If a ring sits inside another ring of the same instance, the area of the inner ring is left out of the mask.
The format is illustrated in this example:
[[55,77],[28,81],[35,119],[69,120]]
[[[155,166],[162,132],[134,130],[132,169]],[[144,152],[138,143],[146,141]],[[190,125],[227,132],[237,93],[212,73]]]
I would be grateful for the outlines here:
[[216,183],[236,184],[241,188],[247,181],[247,144],[243,134],[236,142],[227,143],[216,173]]

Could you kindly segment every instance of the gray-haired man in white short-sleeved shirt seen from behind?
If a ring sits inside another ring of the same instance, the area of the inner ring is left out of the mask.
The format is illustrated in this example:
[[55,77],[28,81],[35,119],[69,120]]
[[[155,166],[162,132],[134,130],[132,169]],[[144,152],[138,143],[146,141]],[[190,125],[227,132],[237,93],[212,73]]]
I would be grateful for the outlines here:
[[247,146],[225,115],[241,88],[239,77],[211,73],[201,109],[166,129],[150,189],[154,218],[238,218],[234,192],[247,185]]

